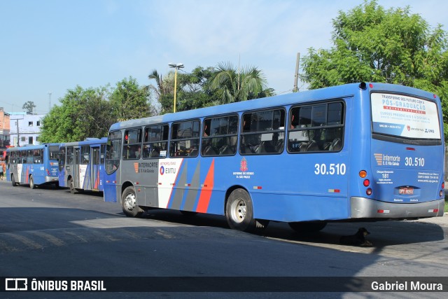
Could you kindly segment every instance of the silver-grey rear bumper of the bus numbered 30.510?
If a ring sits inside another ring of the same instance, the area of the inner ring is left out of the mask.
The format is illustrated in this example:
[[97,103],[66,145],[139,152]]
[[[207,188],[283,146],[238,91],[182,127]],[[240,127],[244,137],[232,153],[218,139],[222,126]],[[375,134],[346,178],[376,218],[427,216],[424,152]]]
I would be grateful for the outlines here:
[[351,197],[350,207],[351,218],[426,218],[443,216],[444,200],[404,204]]

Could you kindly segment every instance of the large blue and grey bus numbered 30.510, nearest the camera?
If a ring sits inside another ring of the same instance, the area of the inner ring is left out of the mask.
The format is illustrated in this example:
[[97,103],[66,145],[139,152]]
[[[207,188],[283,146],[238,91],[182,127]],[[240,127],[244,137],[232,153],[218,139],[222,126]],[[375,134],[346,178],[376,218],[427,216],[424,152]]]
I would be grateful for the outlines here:
[[386,83],[127,120],[109,131],[104,200],[244,231],[442,216],[442,125],[437,95]]

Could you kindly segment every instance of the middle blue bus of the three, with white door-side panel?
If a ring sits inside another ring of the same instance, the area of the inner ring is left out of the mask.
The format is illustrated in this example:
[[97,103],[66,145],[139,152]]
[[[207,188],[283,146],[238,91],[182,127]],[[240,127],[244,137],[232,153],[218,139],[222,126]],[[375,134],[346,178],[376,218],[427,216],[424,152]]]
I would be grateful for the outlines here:
[[87,138],[59,146],[59,186],[71,193],[80,190],[102,191],[104,153],[107,138]]

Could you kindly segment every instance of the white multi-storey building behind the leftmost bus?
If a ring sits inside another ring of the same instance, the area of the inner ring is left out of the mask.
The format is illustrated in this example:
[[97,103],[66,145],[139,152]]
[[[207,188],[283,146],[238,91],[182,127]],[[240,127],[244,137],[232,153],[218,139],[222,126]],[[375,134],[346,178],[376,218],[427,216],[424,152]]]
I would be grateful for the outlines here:
[[40,144],[43,114],[28,114],[27,112],[10,113],[10,144],[12,146],[27,146]]

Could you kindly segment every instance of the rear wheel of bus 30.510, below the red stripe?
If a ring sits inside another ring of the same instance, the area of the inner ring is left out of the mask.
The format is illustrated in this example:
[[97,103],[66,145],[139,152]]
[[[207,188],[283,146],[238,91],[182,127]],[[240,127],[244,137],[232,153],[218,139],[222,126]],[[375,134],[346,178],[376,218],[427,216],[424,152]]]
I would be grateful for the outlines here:
[[225,203],[225,218],[230,228],[251,232],[255,229],[253,206],[249,193],[244,189],[235,189]]

